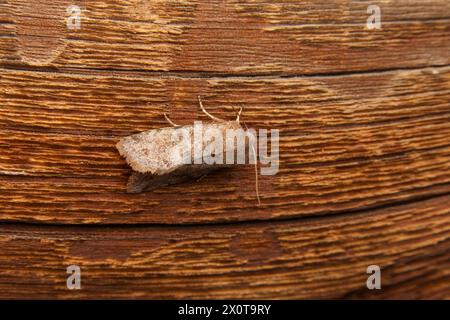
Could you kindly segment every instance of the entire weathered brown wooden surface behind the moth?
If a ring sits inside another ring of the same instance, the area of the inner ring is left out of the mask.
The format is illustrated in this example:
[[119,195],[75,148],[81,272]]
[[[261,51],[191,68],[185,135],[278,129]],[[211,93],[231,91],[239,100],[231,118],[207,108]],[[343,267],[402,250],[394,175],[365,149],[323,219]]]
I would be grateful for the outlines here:
[[[0,0],[0,298],[450,299],[449,52],[448,0]],[[280,130],[260,207],[252,166],[125,192],[199,94]]]

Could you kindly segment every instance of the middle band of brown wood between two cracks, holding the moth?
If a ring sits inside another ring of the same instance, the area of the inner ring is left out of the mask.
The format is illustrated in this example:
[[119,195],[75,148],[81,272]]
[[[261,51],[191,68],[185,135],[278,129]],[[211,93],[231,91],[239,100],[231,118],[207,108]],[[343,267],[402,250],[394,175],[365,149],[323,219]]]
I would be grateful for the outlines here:
[[[0,74],[2,221],[275,219],[359,210],[450,188],[448,67],[287,79]],[[130,169],[114,147],[119,136],[164,126],[166,104],[176,122],[191,123],[198,92],[223,118],[245,102],[251,127],[281,130],[280,171],[260,176],[261,207],[249,187],[252,166],[125,193]]]

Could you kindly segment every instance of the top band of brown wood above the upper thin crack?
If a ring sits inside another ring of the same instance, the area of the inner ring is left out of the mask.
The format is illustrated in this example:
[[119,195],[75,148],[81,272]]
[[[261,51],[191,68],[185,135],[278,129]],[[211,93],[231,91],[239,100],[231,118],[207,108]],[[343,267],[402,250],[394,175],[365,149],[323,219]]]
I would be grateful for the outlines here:
[[[228,74],[315,74],[450,63],[446,0],[85,0],[79,3],[81,28],[74,30],[66,27],[70,4],[0,4],[0,22],[8,29],[0,37],[0,63]],[[366,28],[369,4],[381,7],[382,30]]]

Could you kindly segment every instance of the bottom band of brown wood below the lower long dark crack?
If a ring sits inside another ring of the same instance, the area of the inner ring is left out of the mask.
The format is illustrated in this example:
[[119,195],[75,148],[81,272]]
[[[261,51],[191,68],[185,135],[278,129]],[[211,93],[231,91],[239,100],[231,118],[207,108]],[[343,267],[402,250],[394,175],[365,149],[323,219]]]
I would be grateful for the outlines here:
[[[0,298],[448,299],[448,203],[225,226],[1,225]],[[72,264],[81,290],[66,289]],[[379,291],[366,288],[373,264]]]

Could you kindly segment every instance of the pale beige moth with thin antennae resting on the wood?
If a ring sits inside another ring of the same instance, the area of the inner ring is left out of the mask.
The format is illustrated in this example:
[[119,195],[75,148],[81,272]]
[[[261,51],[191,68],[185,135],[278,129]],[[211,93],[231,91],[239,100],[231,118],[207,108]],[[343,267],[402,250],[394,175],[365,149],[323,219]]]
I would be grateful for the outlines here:
[[[226,133],[230,130],[243,130],[240,123],[242,108],[240,108],[235,120],[225,121],[208,113],[203,107],[200,97],[198,97],[198,102],[201,110],[212,120],[202,124],[202,134],[212,131],[216,133],[217,137],[217,133],[219,133],[225,143],[219,145],[219,149],[217,149],[217,145],[214,145],[216,147],[215,152],[212,152],[209,158],[205,158],[205,150],[210,148],[214,141],[201,139],[199,142],[198,139],[195,139],[198,134],[195,125],[176,125],[164,114],[171,127],[148,130],[127,136],[120,139],[116,145],[120,155],[125,158],[133,170],[128,179],[127,192],[139,193],[188,180],[198,180],[212,171],[233,166],[233,164],[227,164],[226,162],[216,163],[213,160],[220,157],[224,159],[225,154],[229,156],[230,149],[233,149],[232,156],[234,158],[235,148],[230,146],[236,147],[236,141],[233,140],[229,143],[230,138]],[[180,139],[180,137],[184,139]],[[246,148],[248,147],[247,145]],[[251,148],[254,155],[255,170],[257,170],[256,152],[253,144]],[[257,179],[256,174],[256,194],[258,203],[260,203]]]

